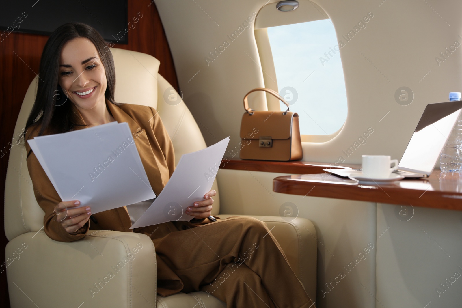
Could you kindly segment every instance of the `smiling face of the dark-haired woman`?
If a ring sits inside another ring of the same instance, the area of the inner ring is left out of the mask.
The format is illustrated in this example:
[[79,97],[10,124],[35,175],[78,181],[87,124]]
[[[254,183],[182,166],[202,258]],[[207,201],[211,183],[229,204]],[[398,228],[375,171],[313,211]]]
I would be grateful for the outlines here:
[[80,109],[105,104],[106,74],[96,47],[89,39],[74,38],[63,46],[58,82]]

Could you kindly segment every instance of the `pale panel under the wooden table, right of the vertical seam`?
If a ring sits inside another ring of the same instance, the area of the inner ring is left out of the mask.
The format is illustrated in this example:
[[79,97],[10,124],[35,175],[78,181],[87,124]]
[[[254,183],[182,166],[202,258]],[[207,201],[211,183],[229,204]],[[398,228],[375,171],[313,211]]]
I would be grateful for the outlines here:
[[461,239],[461,211],[378,204],[377,307],[461,307]]

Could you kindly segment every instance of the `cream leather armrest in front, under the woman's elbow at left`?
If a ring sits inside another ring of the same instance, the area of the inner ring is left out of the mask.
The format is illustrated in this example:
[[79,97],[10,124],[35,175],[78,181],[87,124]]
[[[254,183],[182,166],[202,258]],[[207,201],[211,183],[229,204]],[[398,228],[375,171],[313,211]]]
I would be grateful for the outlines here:
[[156,307],[156,254],[140,233],[90,230],[74,242],[45,232],[6,245],[11,307]]

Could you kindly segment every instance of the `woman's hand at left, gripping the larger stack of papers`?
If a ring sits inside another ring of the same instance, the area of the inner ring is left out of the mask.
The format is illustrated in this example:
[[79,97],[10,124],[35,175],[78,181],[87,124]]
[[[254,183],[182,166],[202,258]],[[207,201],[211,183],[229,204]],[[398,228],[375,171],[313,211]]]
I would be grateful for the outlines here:
[[67,233],[75,233],[77,230],[82,228],[88,221],[91,215],[91,209],[89,206],[79,207],[80,201],[61,201],[58,205],[55,205],[55,220],[60,222],[62,227]]

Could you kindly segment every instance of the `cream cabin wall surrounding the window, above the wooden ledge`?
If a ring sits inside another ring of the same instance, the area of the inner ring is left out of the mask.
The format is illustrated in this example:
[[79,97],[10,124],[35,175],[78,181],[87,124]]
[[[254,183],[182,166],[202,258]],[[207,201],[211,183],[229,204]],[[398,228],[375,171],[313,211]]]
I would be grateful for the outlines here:
[[[374,17],[340,49],[348,103],[345,126],[328,142],[304,143],[303,160],[335,163],[342,157],[345,163],[360,163],[362,154],[401,158],[426,104],[446,101],[450,91],[462,91],[462,72],[458,69],[462,49],[456,48],[444,62],[435,60],[455,41],[462,43],[462,2],[313,2],[327,12],[339,41],[345,41],[342,35],[369,12]],[[227,36],[265,1],[157,0],[156,4],[184,100],[207,145],[231,136],[228,149],[233,149],[241,141],[243,96],[252,88],[263,87],[264,82],[253,24],[235,41]],[[224,41],[230,46],[207,64],[205,58]],[[403,86],[413,92],[413,102],[407,106],[395,100],[395,92]],[[265,108],[264,101],[253,103],[254,109]],[[345,155],[342,151],[354,145],[369,127],[373,133],[367,143],[355,148],[349,157]]]

